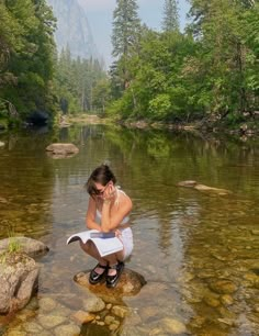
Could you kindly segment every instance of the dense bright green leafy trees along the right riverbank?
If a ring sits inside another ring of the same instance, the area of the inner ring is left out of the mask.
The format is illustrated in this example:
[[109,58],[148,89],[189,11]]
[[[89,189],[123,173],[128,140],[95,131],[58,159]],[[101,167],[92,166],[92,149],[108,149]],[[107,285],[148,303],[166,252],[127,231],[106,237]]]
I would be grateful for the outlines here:
[[[110,114],[213,123],[225,117],[240,121],[243,112],[258,110],[258,2],[190,4],[192,21],[184,33],[177,29],[177,1],[166,1],[164,32],[142,26],[139,38],[131,44],[136,52],[127,53],[126,61],[123,53],[116,54],[110,72]],[[126,19],[122,16],[120,24]]]

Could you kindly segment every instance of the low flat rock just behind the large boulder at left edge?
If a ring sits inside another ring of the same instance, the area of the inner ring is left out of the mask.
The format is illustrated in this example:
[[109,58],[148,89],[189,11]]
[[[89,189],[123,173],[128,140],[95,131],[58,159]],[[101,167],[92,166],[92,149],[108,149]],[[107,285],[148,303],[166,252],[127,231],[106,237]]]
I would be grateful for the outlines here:
[[29,255],[30,257],[36,257],[47,253],[48,247],[36,239],[27,237],[12,237],[0,240],[0,254],[9,249],[9,245],[15,242],[19,246],[19,251]]

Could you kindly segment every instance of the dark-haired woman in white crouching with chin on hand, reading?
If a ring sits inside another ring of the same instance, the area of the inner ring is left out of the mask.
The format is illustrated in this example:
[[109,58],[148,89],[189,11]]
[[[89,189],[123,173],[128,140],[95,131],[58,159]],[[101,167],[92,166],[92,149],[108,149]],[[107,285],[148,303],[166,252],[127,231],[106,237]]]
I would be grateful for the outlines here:
[[115,287],[124,268],[124,260],[132,254],[133,236],[128,214],[132,201],[115,187],[116,178],[108,165],[95,168],[86,183],[90,194],[87,211],[87,227],[100,232],[115,232],[123,243],[123,250],[101,257],[95,245],[89,240],[81,248],[98,260],[91,270],[89,282],[99,283],[105,277],[106,287]]

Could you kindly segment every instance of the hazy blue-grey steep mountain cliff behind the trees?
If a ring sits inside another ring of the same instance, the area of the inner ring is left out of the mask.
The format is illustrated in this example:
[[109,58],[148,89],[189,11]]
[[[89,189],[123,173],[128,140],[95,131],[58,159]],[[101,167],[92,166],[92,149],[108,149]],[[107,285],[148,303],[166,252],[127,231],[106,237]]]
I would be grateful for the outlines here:
[[99,53],[93,41],[87,14],[77,0],[46,0],[57,19],[55,41],[60,52],[67,46],[74,58],[97,58]]

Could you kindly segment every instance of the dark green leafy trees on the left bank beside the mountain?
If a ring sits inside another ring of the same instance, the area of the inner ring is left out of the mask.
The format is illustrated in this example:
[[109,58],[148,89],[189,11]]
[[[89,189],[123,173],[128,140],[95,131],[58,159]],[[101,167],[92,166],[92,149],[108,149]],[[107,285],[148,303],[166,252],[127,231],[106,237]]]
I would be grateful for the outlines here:
[[45,0],[0,3],[0,88],[21,119],[53,110],[55,19]]

